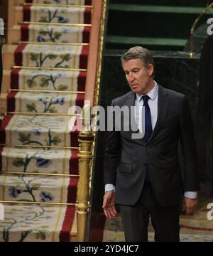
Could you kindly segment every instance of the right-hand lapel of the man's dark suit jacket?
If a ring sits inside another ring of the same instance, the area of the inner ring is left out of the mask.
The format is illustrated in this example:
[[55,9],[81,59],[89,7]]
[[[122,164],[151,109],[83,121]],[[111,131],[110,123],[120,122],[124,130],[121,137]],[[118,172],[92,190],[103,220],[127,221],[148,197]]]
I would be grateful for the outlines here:
[[163,124],[163,121],[168,110],[168,92],[166,92],[166,90],[160,85],[158,86],[158,118],[153,133],[151,134],[151,137],[148,139],[148,142],[151,142],[153,137],[155,137],[155,135],[158,134],[158,130],[160,129],[160,126]]

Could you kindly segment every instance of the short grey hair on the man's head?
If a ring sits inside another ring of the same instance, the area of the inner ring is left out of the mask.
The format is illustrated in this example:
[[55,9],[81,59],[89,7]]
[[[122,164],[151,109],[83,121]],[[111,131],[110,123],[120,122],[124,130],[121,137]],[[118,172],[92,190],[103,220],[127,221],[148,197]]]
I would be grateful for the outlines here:
[[141,46],[135,46],[130,48],[124,55],[121,57],[121,62],[139,58],[143,64],[148,68],[149,64],[154,65],[153,55],[150,50],[143,48]]

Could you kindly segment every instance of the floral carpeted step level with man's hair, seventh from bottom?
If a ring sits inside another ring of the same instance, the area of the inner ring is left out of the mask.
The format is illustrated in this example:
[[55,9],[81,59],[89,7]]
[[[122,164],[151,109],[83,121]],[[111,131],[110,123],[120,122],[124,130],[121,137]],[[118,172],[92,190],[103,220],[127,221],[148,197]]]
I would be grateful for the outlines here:
[[87,68],[88,46],[20,44],[15,65],[48,68]]

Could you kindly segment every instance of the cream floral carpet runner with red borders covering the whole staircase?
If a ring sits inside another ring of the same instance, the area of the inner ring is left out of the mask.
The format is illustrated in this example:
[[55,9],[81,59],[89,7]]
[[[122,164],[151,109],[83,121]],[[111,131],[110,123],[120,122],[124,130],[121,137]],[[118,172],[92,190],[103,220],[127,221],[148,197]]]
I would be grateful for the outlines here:
[[[0,142],[7,146],[0,148],[0,201],[75,203],[78,133],[75,119],[60,113],[83,105],[89,46],[70,43],[89,43],[90,26],[83,24],[91,24],[92,1],[26,2],[31,4],[23,6],[23,21],[35,23],[20,26],[23,43],[14,53],[18,68],[11,71],[16,91],[7,96],[7,111],[31,114],[7,114],[1,124]],[[39,112],[58,115],[33,114]],[[69,241],[77,232],[75,218],[72,205],[5,203],[0,241]]]

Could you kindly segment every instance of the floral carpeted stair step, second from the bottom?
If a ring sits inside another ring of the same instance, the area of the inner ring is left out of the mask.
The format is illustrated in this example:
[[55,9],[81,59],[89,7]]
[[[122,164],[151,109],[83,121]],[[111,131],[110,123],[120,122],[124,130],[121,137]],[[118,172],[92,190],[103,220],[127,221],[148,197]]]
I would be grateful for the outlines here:
[[75,203],[77,183],[75,176],[1,174],[0,201]]

